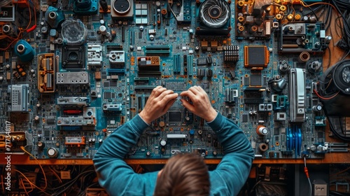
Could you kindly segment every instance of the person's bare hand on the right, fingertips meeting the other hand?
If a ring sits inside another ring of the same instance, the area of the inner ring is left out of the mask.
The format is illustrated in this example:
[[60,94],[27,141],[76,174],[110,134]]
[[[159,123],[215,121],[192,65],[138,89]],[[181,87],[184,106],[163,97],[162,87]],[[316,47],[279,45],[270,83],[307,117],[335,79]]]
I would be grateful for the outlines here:
[[194,113],[207,122],[210,122],[216,118],[217,112],[211,106],[207,92],[205,92],[200,86],[190,87],[188,90],[181,92],[181,97],[188,97],[193,104],[190,104],[185,99],[180,99],[183,106],[190,112]]

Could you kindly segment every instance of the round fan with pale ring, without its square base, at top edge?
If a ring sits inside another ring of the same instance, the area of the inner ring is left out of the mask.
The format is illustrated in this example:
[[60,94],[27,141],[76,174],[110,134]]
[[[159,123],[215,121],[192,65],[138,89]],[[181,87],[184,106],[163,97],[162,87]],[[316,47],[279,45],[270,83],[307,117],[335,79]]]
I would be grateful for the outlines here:
[[221,28],[230,20],[230,5],[223,0],[207,0],[200,6],[200,20],[203,25]]

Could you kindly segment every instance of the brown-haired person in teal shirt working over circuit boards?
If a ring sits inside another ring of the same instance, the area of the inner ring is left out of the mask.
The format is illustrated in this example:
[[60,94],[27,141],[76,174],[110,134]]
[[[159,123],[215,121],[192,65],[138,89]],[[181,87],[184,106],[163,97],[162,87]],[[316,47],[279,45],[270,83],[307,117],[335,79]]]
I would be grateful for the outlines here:
[[225,155],[216,169],[208,172],[203,158],[193,153],[174,155],[160,172],[145,174],[135,173],[123,160],[142,132],[167,113],[178,96],[165,87],[155,87],[144,109],[99,147],[93,158],[94,167],[99,184],[109,195],[237,195],[244,186],[254,158],[253,149],[239,127],[211,106],[200,86],[181,92],[181,97],[190,100],[181,102],[207,121],[223,146]]

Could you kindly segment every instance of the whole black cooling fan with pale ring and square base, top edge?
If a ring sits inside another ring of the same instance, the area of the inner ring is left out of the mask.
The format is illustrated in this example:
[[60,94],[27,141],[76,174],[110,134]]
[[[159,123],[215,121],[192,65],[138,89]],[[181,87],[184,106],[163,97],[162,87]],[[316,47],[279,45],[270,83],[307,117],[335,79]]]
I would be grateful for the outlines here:
[[227,36],[231,29],[230,4],[224,0],[207,0],[197,9],[197,35]]

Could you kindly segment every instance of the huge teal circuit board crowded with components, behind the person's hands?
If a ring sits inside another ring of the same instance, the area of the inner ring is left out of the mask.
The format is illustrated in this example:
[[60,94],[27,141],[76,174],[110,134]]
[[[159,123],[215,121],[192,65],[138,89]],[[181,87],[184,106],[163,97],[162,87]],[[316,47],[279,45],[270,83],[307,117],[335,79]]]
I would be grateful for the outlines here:
[[[323,158],[330,41],[301,1],[14,1],[0,15],[1,153],[91,159],[154,87],[200,85],[255,158]],[[127,158],[225,155],[176,101]]]

